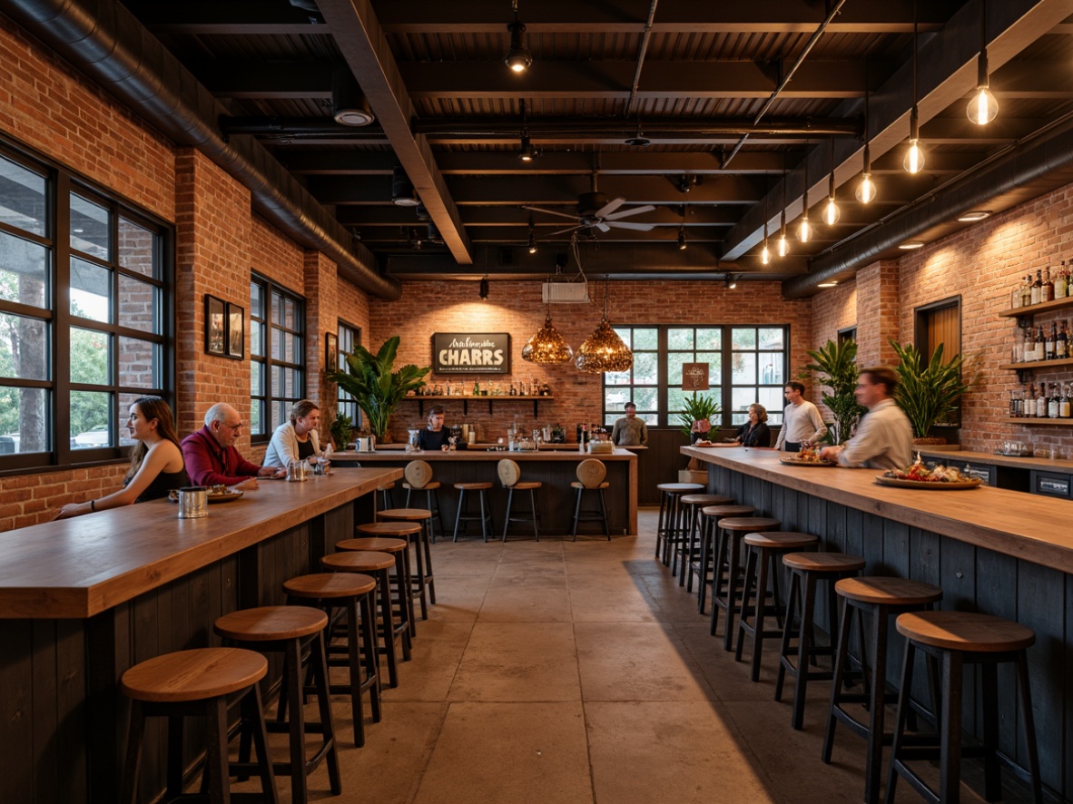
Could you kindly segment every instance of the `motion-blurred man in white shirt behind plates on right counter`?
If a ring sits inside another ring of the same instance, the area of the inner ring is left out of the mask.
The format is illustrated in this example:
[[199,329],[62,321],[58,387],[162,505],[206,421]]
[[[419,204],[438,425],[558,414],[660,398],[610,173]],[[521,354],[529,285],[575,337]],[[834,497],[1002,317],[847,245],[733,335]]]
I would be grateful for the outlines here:
[[824,447],[820,457],[842,466],[908,468],[913,462],[913,428],[894,402],[898,375],[885,366],[865,369],[854,394],[868,408],[857,433],[840,447]]

